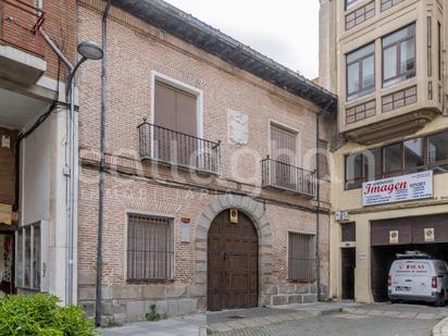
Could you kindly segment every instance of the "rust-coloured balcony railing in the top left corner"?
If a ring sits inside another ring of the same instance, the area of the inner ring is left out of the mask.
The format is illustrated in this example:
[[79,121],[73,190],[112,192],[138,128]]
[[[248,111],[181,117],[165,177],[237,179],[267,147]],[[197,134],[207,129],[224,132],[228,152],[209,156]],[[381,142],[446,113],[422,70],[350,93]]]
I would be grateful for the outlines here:
[[42,58],[45,41],[39,27],[43,24],[43,12],[32,2],[0,0],[0,40]]

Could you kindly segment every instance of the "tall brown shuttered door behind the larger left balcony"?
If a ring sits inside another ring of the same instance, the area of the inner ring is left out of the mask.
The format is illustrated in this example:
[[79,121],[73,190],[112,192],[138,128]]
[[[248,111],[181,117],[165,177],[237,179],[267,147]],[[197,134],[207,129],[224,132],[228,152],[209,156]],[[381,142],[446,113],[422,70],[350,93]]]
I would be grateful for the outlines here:
[[154,88],[153,159],[198,166],[197,97],[165,83]]

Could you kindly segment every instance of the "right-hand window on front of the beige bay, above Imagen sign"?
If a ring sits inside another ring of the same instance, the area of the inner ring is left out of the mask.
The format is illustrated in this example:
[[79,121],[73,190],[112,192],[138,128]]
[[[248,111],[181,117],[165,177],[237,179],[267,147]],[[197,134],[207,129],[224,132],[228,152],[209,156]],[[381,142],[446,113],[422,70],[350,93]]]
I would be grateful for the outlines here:
[[383,86],[415,76],[415,24],[383,38]]

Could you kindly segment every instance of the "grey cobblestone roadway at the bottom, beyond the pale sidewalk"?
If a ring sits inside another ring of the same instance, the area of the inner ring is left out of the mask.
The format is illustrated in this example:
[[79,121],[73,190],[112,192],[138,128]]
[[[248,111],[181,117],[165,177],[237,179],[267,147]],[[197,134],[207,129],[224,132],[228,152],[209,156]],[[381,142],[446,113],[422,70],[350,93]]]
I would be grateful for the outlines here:
[[[242,321],[242,320],[241,320]],[[334,313],[258,325],[214,336],[430,336],[438,320]]]

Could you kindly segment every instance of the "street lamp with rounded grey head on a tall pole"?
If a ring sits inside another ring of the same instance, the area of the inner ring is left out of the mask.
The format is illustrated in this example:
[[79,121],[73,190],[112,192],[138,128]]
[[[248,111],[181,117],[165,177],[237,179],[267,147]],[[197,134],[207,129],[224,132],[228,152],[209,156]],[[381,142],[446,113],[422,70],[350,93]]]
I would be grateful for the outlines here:
[[99,45],[94,41],[83,41],[77,47],[80,60],[75,66],[70,66],[70,73],[65,84],[65,99],[70,99],[70,186],[69,186],[69,274],[67,274],[67,306],[73,303],[73,259],[74,259],[74,229],[75,229],[75,85],[74,78],[76,71],[87,60],[101,60],[103,51]]

